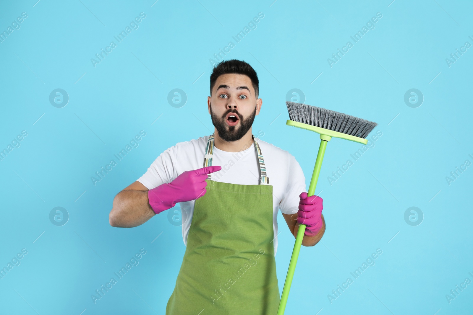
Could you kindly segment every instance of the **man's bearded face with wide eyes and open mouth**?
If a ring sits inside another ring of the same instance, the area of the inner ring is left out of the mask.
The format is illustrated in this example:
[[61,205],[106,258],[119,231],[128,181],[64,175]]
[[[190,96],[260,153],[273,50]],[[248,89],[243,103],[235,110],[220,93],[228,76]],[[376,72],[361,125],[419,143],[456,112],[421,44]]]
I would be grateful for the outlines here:
[[246,135],[262,102],[256,99],[250,78],[236,73],[219,76],[207,100],[212,123],[225,141],[236,141]]

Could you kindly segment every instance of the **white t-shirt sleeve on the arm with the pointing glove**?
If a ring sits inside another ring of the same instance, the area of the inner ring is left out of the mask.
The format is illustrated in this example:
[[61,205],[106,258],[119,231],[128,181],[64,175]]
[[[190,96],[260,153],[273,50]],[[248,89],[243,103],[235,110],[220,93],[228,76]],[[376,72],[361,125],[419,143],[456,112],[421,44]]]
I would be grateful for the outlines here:
[[137,179],[148,189],[164,183],[170,183],[177,177],[177,146],[174,145],[161,153],[149,166],[146,173]]

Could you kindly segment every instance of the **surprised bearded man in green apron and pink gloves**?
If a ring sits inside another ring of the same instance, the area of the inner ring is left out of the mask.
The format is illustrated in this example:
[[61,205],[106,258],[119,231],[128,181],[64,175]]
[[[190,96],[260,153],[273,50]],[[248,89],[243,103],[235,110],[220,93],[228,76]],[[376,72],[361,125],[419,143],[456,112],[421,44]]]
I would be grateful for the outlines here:
[[186,250],[166,314],[275,314],[278,210],[294,237],[307,225],[302,245],[324,234],[322,198],[307,196],[294,156],[252,134],[258,94],[249,64],[221,61],[207,100],[214,133],[168,148],[114,198],[115,227],[183,209]]

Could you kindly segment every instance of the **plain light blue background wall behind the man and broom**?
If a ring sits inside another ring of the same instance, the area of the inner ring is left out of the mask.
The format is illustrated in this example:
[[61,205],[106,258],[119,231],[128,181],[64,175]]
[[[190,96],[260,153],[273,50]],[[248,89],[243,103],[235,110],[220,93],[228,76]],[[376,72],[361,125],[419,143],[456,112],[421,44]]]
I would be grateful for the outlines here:
[[[28,253],[0,280],[1,314],[164,314],[185,250],[181,227],[161,214],[114,228],[108,214],[114,196],[166,148],[211,134],[209,59],[230,41],[225,59],[249,62],[260,79],[254,134],[293,154],[307,187],[319,140],[285,125],[289,90],[302,90],[307,104],[375,121],[372,134],[382,132],[332,185],[327,177],[362,145],[328,143],[316,189],[327,230],[301,249],[286,314],[471,314],[473,284],[446,298],[473,281],[473,166],[446,180],[473,162],[473,48],[446,62],[473,44],[471,2],[22,2],[0,5],[2,32],[28,15],[0,43],[0,149],[28,133],[0,161],[0,266],[22,248]],[[139,28],[94,67],[91,58],[140,12]],[[236,43],[232,36],[258,12],[256,29]],[[354,43],[350,36],[377,12],[375,28]],[[353,47],[330,67],[347,41]],[[57,88],[69,95],[65,107],[49,102]],[[180,108],[167,102],[175,88],[187,96]],[[420,107],[404,102],[411,88],[423,94]],[[91,176],[140,130],[139,146],[94,186]],[[49,219],[57,206],[70,216],[63,226]],[[404,221],[411,206],[424,215],[420,225]],[[294,237],[281,214],[278,221],[282,291]],[[139,264],[94,304],[96,289],[141,248]],[[330,303],[377,248],[376,264]]]

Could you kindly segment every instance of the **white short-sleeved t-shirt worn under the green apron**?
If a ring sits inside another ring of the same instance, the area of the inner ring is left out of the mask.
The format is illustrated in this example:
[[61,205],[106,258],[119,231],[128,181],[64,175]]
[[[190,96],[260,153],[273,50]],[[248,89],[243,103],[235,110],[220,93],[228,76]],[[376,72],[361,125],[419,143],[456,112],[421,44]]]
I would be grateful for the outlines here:
[[[170,183],[186,170],[203,167],[204,151],[209,136],[191,141],[179,142],[166,149],[151,164],[138,181],[146,188],[152,189],[164,183]],[[294,156],[288,151],[269,144],[261,139],[260,145],[266,165],[269,185],[273,191],[273,230],[274,255],[278,248],[278,210],[286,214],[298,212],[299,195],[306,189],[304,173]],[[219,182],[240,185],[258,185],[259,167],[254,145],[241,152],[222,151],[214,146],[212,165],[219,165],[221,170],[213,172],[211,179]],[[182,225],[184,245],[187,246],[187,234],[191,226],[195,200],[182,202]],[[187,218],[185,218],[187,216]],[[284,221],[284,223],[286,223]]]

